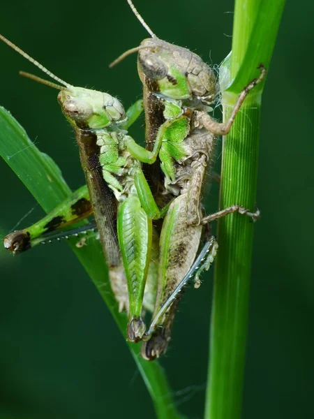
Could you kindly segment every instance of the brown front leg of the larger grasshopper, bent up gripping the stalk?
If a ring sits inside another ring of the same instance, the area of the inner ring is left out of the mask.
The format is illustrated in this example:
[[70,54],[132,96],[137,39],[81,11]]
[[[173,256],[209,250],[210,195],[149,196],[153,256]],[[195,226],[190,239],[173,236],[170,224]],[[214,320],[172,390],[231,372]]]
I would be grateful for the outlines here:
[[241,108],[242,103],[244,102],[244,99],[246,98],[246,96],[248,96],[248,93],[256,86],[256,84],[262,82],[262,80],[264,80],[265,78],[265,75],[267,73],[266,68],[264,68],[262,64],[260,64],[260,66],[258,66],[257,68],[259,68],[261,71],[260,77],[252,80],[251,83],[249,83],[241,91],[239,97],[237,98],[237,102],[235,103],[232,109],[231,115],[226,122],[217,122],[206,112],[195,111],[196,126],[204,126],[204,128],[206,128],[207,131],[210,131],[215,135],[227,135],[227,133],[229,133],[230,131],[230,128],[234,122],[237,113],[239,112],[239,109]]

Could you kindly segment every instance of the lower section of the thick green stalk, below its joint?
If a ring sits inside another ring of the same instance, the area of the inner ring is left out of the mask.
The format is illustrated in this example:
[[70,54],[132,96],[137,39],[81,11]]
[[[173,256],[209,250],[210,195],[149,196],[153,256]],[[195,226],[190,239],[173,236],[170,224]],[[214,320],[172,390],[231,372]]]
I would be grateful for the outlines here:
[[[231,108],[232,103],[224,105],[225,117]],[[220,208],[234,203],[255,208],[259,123],[260,102],[256,101],[245,106],[224,140]],[[243,133],[241,138],[239,132]],[[240,214],[226,216],[218,225],[218,243],[205,418],[237,419],[241,411],[253,223]]]

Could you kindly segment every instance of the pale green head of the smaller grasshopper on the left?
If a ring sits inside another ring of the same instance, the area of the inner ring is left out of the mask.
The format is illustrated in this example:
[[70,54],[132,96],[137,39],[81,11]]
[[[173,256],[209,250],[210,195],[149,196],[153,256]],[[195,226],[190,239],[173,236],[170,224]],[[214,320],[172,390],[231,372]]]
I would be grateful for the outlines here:
[[58,95],[63,114],[73,126],[81,129],[105,128],[126,120],[118,99],[83,87],[66,87]]

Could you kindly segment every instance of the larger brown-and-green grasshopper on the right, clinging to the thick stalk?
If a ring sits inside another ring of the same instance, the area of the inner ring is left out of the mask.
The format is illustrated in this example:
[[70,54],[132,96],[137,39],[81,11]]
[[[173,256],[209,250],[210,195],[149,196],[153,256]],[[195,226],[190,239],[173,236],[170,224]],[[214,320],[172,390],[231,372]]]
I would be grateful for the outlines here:
[[[170,327],[177,307],[172,293],[190,269],[200,246],[202,226],[232,212],[257,217],[240,205],[204,217],[200,200],[207,168],[213,158],[216,135],[226,135],[248,92],[261,82],[253,80],[239,95],[230,118],[216,122],[208,115],[209,105],[218,93],[214,72],[202,59],[186,48],[160,40],[127,0],[135,16],[147,29],[151,38],[139,47],[122,54],[110,66],[138,52],[137,68],[143,84],[143,99],[148,148],[136,157],[144,163],[160,159],[164,186],[174,199],[165,216],[160,234],[160,263],[158,293],[153,314],[154,328],[144,337],[142,355],[149,360],[165,352],[170,340]],[[167,126],[163,139],[156,142],[160,126]],[[157,147],[158,146],[158,147]],[[210,240],[214,243],[214,240]],[[216,245],[213,244],[215,248]],[[181,290],[181,288],[180,288]],[[179,291],[176,293],[179,295]],[[170,303],[170,300],[172,303]],[[167,309],[165,309],[167,307]]]

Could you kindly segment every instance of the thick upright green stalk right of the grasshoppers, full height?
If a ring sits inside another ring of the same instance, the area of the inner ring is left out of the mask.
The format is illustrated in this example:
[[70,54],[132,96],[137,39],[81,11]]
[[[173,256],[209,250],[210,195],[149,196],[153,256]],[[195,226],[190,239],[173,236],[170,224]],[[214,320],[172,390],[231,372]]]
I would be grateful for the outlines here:
[[[269,69],[284,0],[237,0],[232,54],[223,64],[223,119],[237,95],[258,76],[257,66]],[[220,184],[222,209],[238,204],[255,210],[258,142],[263,84],[249,94],[229,135],[223,140]],[[218,223],[219,250],[211,314],[206,419],[239,419],[246,353],[248,299],[253,247],[253,223],[232,214]]]

